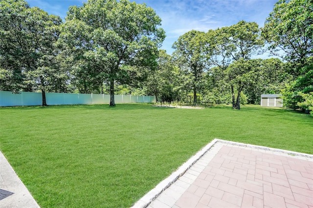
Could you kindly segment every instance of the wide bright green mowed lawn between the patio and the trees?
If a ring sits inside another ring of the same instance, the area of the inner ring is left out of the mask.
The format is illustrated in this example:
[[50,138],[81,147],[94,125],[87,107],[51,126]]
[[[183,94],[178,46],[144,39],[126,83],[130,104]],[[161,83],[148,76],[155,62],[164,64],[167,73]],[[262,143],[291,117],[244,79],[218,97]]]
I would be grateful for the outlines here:
[[214,138],[313,154],[313,118],[259,106],[0,108],[0,150],[42,208],[130,207]]

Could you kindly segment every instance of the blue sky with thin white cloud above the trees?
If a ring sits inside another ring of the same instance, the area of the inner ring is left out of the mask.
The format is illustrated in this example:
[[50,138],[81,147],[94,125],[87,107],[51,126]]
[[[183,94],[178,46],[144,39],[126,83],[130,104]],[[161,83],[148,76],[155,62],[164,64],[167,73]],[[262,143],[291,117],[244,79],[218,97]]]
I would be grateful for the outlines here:
[[[49,14],[67,16],[68,7],[81,6],[87,0],[26,0]],[[173,43],[184,33],[195,29],[208,31],[230,26],[238,21],[255,21],[263,27],[277,0],[135,0],[152,7],[162,19],[166,39],[162,49],[172,54]]]

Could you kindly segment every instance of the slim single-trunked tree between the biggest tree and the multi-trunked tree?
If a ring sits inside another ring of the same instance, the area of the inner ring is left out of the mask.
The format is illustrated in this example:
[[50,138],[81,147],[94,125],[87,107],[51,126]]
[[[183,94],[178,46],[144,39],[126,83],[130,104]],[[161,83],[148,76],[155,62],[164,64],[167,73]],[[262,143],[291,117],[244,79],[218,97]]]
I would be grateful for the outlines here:
[[197,104],[197,91],[201,87],[203,72],[208,68],[205,55],[203,54],[204,32],[191,30],[174,42],[173,55],[181,68],[185,68],[191,77],[193,89],[193,104]]

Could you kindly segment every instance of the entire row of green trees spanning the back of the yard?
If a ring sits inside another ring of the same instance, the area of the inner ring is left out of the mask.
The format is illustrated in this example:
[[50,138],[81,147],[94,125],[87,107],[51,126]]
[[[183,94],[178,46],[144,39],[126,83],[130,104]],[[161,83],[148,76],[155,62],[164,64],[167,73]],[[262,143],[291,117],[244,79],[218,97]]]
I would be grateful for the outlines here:
[[[0,1],[0,90],[197,97],[206,104],[259,104],[283,94],[284,105],[313,112],[313,2],[279,0],[255,22],[189,31],[172,55],[152,8],[129,0],[70,6],[65,22],[23,0]],[[281,59],[253,59],[269,52]]]

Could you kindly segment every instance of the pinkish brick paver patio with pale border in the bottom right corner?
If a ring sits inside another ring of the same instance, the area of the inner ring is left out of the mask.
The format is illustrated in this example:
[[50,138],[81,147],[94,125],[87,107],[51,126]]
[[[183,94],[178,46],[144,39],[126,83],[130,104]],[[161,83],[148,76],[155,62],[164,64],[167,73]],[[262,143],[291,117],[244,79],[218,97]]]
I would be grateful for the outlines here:
[[312,155],[229,142],[213,148],[168,188],[180,193],[164,191],[149,208],[313,208]]

